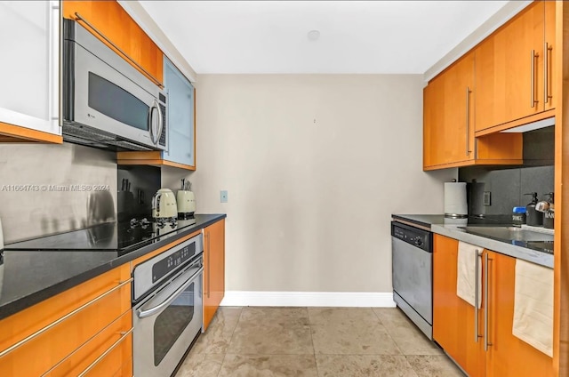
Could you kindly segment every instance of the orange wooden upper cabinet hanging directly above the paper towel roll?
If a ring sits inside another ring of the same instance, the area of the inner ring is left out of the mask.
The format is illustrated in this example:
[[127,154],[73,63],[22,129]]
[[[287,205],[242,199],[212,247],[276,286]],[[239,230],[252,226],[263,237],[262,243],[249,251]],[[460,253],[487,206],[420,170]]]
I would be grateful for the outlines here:
[[521,164],[519,133],[475,137],[475,54],[469,52],[423,91],[423,170],[472,164]]

